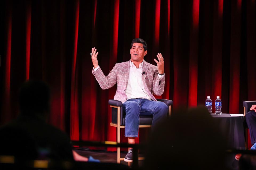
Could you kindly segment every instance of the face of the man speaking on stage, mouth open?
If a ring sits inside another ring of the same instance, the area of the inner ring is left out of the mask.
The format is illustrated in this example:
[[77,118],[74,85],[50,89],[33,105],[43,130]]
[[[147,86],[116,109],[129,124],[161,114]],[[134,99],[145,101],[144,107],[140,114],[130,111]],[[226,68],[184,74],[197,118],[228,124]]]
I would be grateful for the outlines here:
[[144,51],[143,44],[133,43],[133,46],[130,49],[131,61],[142,62],[144,56],[146,56],[147,51]]

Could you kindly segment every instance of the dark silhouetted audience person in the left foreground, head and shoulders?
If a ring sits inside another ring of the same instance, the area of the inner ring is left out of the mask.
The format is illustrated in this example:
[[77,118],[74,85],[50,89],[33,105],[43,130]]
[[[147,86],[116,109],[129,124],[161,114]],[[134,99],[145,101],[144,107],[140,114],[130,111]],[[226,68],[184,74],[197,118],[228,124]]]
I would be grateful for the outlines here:
[[19,91],[18,118],[0,128],[0,155],[27,160],[87,161],[72,151],[69,137],[46,123],[50,89],[42,81],[27,81]]

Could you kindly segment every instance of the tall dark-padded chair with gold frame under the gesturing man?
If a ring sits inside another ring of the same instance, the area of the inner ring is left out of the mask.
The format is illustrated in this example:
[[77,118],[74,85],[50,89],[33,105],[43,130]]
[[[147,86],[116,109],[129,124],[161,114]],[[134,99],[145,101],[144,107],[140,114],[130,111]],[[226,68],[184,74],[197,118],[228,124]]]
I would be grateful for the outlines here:
[[[173,101],[167,99],[157,99],[157,101],[162,101],[168,106],[168,114],[169,116],[171,116],[171,106],[173,105]],[[110,99],[109,105],[110,107],[112,107],[112,122],[110,123],[110,126],[114,126],[117,128],[117,143],[120,143],[121,128],[125,128],[125,114],[123,114],[123,103],[118,100]],[[150,128],[152,120],[153,116],[140,116],[139,128]],[[143,159],[143,157],[138,158],[138,160]],[[121,158],[120,147],[117,147],[117,163],[120,163],[121,160],[124,160],[124,158]]]

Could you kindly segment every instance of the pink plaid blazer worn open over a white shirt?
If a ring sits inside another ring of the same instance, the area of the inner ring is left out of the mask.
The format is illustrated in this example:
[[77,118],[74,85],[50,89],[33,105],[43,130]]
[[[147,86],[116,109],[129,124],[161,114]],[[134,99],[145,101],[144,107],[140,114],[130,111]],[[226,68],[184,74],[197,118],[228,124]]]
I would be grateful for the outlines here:
[[[100,67],[96,71],[93,69],[93,75],[103,90],[108,89],[117,83],[117,91],[115,92],[114,99],[122,101],[122,103],[127,100],[125,90],[129,79],[129,62],[130,61],[115,64],[114,68],[110,71],[107,77],[103,74]],[[158,77],[157,66],[147,63],[146,61],[143,63],[142,70],[142,72],[145,71],[145,74],[142,75],[142,82],[145,90],[152,100],[157,101],[152,93],[157,96],[163,94],[165,77],[163,76],[160,79]]]

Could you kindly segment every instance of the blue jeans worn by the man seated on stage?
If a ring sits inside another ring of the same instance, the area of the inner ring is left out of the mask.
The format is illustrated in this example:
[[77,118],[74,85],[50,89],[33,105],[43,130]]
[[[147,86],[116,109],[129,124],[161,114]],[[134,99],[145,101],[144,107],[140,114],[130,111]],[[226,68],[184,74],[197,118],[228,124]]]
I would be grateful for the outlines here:
[[161,101],[151,101],[147,99],[129,99],[123,103],[125,112],[125,137],[138,137],[139,116],[153,115],[152,128],[167,117],[168,107]]

